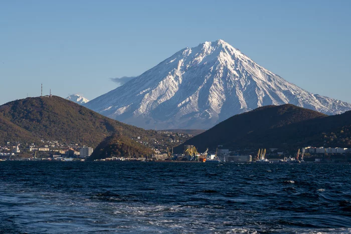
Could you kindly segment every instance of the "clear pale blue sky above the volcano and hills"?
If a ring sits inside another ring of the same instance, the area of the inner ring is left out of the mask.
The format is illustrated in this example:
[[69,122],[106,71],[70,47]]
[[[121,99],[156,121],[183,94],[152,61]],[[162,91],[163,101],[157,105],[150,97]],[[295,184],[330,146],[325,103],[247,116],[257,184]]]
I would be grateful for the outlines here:
[[0,0],[0,104],[93,99],[175,52],[223,39],[301,88],[351,102],[351,1]]

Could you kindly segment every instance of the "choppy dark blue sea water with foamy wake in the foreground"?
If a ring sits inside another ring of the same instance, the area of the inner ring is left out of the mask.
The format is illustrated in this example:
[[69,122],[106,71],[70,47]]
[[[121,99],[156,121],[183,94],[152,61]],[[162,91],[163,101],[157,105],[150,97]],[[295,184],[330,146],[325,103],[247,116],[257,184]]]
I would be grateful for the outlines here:
[[351,165],[0,162],[1,233],[350,233]]

